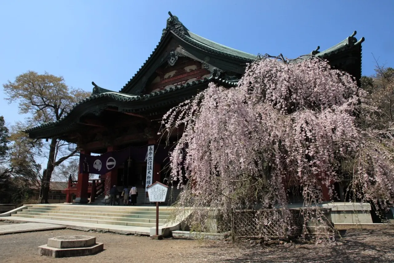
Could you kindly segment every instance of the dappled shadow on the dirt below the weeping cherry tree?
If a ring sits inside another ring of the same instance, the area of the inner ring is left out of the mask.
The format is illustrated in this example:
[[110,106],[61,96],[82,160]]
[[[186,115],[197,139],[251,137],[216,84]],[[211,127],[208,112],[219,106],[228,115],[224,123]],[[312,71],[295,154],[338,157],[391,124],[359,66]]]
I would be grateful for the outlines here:
[[394,262],[394,230],[348,231],[336,244],[261,246],[238,242],[206,246],[206,258],[217,262]]

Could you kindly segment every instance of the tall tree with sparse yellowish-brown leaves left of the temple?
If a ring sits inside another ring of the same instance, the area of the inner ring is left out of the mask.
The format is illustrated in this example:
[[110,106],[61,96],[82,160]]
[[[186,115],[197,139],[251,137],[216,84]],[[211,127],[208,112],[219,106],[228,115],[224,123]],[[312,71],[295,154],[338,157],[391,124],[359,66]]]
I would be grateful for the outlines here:
[[[39,74],[35,71],[28,71],[17,76],[13,82],[8,81],[3,87],[7,94],[6,100],[10,103],[17,101],[19,112],[30,114],[26,118],[24,129],[47,122],[56,122],[67,115],[76,102],[90,96],[89,92],[68,87],[63,77],[54,76],[47,72]],[[23,136],[19,134],[16,137],[22,138]],[[34,150],[26,146],[25,143],[21,141],[18,150],[24,151],[29,148],[30,153],[45,151],[45,157],[48,161],[40,179],[39,202],[48,203],[50,180],[55,167],[75,156],[77,150],[76,148],[69,150],[69,144],[60,141],[58,138],[52,138],[48,143],[32,141]]]

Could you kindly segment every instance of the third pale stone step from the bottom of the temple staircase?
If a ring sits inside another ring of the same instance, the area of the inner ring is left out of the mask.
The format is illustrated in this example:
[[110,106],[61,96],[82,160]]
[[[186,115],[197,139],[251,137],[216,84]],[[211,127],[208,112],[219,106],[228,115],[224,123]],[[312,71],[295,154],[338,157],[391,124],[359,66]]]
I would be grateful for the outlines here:
[[[117,214],[117,213],[95,213],[95,212],[79,212],[79,211],[54,211],[54,210],[38,210],[38,209],[24,209],[23,212],[33,212],[33,213],[48,213],[48,214],[75,214],[81,216],[106,216],[106,217],[121,217],[121,218],[156,218],[156,214],[154,215],[146,215],[146,214]],[[159,212],[159,219],[167,219],[169,216],[162,215]]]

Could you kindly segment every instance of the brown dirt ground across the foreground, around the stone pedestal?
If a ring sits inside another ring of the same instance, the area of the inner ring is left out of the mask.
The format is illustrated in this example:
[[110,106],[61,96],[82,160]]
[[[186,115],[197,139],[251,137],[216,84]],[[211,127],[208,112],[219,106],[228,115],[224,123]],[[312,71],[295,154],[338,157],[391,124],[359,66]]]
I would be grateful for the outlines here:
[[[48,238],[63,235],[91,235],[104,243],[96,255],[71,258],[39,256],[37,247]],[[254,242],[152,240],[149,237],[70,229],[0,236],[0,262],[394,262],[394,230],[348,231],[336,244],[283,244],[261,246]]]

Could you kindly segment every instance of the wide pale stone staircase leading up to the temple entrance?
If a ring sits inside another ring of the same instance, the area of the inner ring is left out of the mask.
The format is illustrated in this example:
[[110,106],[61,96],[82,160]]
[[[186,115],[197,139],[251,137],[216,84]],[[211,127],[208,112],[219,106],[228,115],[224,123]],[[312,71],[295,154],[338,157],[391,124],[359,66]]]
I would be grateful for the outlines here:
[[[159,208],[159,225],[164,225],[171,214],[170,207]],[[27,209],[11,214],[13,217],[39,218],[91,224],[156,226],[156,207],[103,205],[29,205]],[[60,223],[60,222],[59,222]]]

